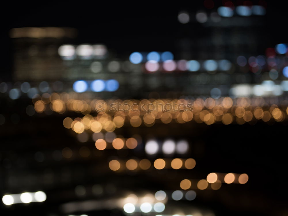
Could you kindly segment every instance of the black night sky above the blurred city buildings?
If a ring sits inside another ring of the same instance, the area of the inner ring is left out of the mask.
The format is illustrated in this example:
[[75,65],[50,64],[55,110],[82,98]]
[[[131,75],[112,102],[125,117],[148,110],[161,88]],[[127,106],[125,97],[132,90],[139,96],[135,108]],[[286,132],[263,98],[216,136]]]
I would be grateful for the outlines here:
[[[214,10],[222,1],[214,1]],[[233,1],[236,4],[236,1]],[[258,1],[253,1],[257,4]],[[268,1],[266,33],[271,44],[285,43],[286,8],[283,1]],[[105,43],[117,53],[135,50],[173,50],[175,40],[182,37],[177,14],[205,9],[203,1],[190,3],[139,2],[99,3],[3,3],[1,7],[1,79],[9,79],[12,65],[12,43],[8,32],[15,27],[69,26],[77,28],[77,43]],[[213,10],[213,9],[212,9]],[[207,10],[209,11],[209,10]],[[193,26],[195,32],[197,25]],[[199,28],[199,26],[198,26]],[[266,36],[267,36],[266,35]],[[268,45],[271,46],[271,45]]]

